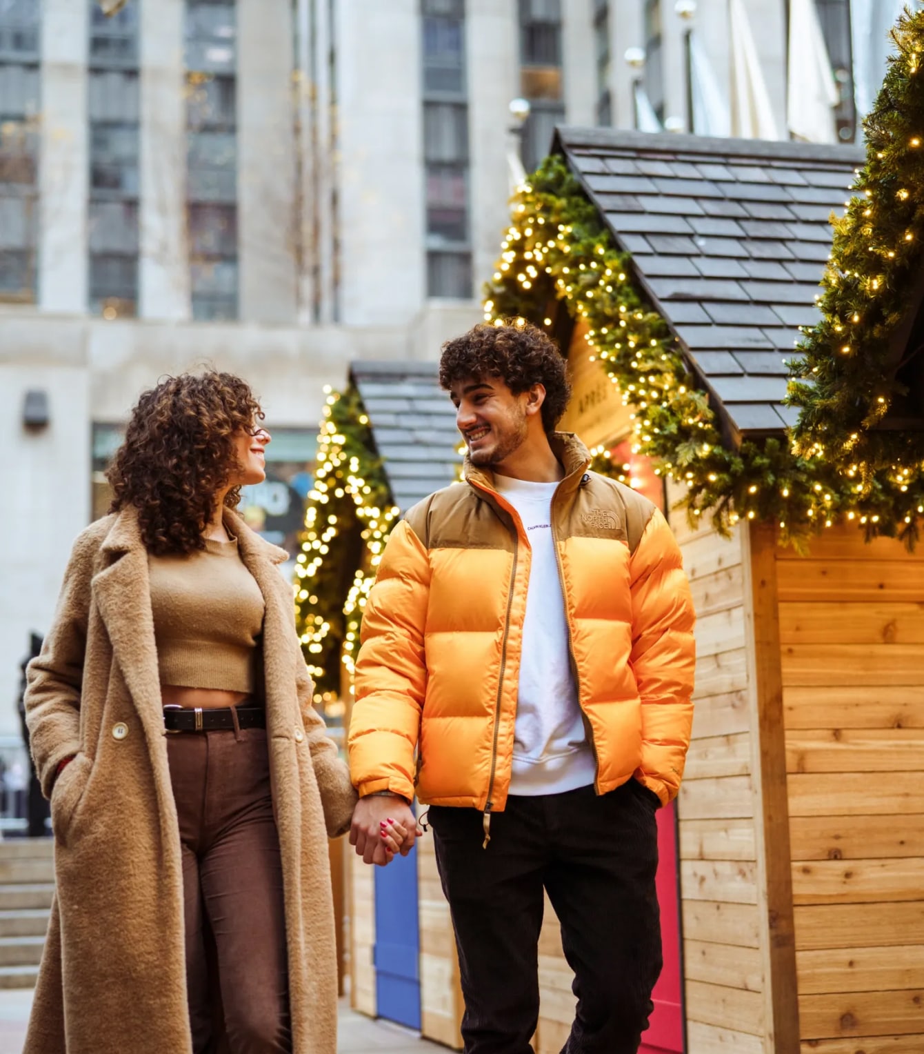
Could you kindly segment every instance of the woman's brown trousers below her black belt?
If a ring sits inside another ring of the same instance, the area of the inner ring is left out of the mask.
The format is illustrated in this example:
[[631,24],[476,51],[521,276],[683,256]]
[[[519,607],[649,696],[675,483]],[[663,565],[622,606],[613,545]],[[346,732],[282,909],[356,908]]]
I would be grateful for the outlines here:
[[182,844],[193,1050],[212,1050],[210,993],[217,989],[230,1054],[292,1054],[267,733],[171,735],[168,755]]

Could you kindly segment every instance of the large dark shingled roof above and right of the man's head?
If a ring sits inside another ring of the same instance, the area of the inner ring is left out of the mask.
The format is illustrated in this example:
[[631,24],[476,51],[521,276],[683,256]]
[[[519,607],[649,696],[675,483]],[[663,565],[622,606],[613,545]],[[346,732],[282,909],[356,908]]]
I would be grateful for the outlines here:
[[559,128],[591,201],[735,440],[794,424],[783,406],[799,326],[843,210],[856,147]]

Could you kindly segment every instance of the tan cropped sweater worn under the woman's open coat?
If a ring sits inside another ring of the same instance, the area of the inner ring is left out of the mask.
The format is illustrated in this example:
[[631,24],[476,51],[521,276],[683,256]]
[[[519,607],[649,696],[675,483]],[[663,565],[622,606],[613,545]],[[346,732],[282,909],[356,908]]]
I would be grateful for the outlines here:
[[148,557],[161,684],[252,694],[263,594],[237,542]]

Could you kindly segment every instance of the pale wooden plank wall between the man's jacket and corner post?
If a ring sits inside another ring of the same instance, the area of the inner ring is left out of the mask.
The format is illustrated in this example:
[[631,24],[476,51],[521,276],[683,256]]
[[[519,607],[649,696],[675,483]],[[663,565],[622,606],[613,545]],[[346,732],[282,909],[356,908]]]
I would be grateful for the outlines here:
[[[669,506],[680,496],[669,488]],[[691,530],[684,512],[670,523],[697,617],[693,734],[677,801],[687,1054],[763,1054],[741,536]]]

